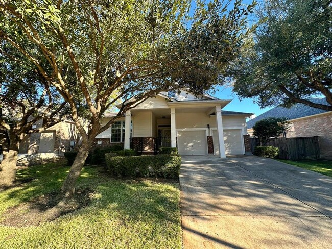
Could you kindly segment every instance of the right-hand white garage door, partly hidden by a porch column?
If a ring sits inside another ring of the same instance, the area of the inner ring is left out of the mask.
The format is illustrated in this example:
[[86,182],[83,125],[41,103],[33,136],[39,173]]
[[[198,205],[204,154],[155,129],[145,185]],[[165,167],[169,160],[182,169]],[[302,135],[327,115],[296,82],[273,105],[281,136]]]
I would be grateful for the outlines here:
[[[215,154],[219,155],[219,139],[217,130],[213,131]],[[243,154],[241,130],[224,130],[225,153],[230,155]]]

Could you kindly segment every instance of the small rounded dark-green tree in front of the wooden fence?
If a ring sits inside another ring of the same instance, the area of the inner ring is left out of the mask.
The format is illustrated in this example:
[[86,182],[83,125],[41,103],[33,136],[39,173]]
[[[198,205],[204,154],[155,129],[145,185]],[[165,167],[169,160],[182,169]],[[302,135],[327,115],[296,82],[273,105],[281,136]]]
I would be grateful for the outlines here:
[[261,119],[252,127],[252,135],[265,145],[271,138],[277,138],[288,130],[289,122],[286,118],[269,117]]

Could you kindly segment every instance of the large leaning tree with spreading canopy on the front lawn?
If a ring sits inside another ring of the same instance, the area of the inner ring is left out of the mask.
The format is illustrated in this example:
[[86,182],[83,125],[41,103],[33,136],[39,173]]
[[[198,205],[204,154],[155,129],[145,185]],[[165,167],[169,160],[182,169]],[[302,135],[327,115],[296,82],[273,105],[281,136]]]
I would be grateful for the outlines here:
[[[58,90],[82,137],[62,196],[73,195],[93,139],[127,110],[161,91],[189,87],[200,95],[222,83],[251,32],[246,30],[246,16],[256,3],[243,6],[236,0],[227,10],[230,2],[198,1],[193,16],[188,15],[190,4],[191,0],[0,0],[5,20],[0,39],[25,55]],[[29,46],[22,46],[21,40],[28,40]],[[51,72],[39,58],[48,62]],[[75,72],[75,84],[64,77],[66,70]],[[114,91],[117,96],[110,98]],[[89,111],[88,131],[78,112],[82,99]],[[101,127],[104,112],[118,100],[118,114]]]

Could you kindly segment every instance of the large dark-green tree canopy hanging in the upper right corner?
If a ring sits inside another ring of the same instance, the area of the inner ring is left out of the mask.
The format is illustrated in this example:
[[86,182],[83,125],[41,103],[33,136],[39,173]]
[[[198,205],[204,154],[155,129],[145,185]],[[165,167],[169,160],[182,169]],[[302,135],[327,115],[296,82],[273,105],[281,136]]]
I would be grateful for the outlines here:
[[[234,92],[261,107],[302,103],[332,111],[331,1],[268,0],[255,16],[265,23],[232,71]],[[311,102],[312,95],[329,105]]]

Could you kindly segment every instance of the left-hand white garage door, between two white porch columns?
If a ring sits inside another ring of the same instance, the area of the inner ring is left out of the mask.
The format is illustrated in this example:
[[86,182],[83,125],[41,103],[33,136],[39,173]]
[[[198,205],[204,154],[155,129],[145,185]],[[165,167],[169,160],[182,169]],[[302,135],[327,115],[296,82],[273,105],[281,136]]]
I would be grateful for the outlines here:
[[206,132],[178,132],[178,150],[180,155],[207,155]]

